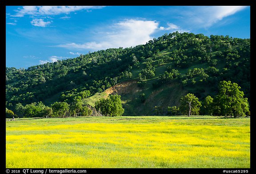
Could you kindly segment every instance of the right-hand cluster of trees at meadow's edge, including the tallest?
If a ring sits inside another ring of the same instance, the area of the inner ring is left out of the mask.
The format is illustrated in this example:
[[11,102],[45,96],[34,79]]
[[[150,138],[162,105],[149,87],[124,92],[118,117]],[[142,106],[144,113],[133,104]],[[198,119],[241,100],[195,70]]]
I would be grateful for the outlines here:
[[168,115],[250,116],[248,98],[240,89],[236,83],[221,81],[214,98],[207,96],[199,101],[194,94],[188,93],[181,97],[179,107],[168,107]]

